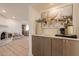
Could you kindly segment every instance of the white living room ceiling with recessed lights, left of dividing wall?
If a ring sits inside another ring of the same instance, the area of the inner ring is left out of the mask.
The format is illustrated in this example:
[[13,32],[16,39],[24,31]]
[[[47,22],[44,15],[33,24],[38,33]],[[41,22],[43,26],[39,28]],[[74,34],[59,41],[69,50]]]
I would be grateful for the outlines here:
[[[0,3],[0,15],[10,19],[27,20],[27,5],[24,3]],[[3,13],[2,10],[6,10],[6,13]]]

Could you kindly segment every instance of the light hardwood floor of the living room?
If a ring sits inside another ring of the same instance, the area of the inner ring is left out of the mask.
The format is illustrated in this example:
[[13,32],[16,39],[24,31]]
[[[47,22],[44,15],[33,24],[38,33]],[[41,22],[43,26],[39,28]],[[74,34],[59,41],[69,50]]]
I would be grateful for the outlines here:
[[28,39],[28,37],[23,37],[0,46],[0,56],[27,56],[29,50]]

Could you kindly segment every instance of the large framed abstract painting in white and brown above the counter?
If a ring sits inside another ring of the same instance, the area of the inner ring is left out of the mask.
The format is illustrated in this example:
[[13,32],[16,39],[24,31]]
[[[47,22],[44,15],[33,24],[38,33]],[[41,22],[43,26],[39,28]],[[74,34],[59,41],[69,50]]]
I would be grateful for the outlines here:
[[[65,18],[73,16],[73,6],[68,5],[57,9],[49,9],[41,13],[42,28],[64,27]],[[72,22],[72,19],[71,19]]]

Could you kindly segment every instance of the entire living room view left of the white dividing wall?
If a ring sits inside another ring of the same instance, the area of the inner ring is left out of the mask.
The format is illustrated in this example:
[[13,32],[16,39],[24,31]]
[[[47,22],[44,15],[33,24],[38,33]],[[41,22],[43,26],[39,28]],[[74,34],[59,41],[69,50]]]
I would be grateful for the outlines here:
[[0,4],[1,56],[28,55],[29,25],[25,7],[27,4]]

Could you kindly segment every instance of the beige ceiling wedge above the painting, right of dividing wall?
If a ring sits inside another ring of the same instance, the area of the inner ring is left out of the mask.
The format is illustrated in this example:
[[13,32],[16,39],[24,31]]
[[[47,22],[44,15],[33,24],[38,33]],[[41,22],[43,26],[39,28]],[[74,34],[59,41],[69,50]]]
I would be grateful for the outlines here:
[[51,7],[55,7],[55,6],[58,6],[61,4],[64,4],[64,3],[36,3],[36,4],[33,4],[33,8],[35,8],[39,11],[42,11],[42,10],[45,10],[45,9],[48,9]]

